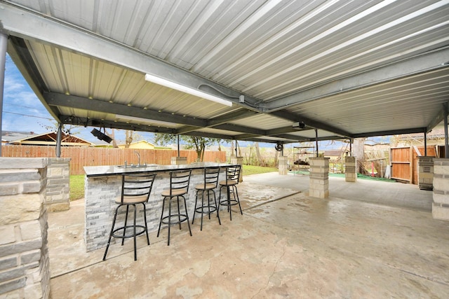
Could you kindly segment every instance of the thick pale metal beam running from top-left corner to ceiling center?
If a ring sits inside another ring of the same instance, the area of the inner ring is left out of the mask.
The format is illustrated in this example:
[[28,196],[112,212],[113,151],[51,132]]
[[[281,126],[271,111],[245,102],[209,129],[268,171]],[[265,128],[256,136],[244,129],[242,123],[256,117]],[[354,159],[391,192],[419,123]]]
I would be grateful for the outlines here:
[[[185,69],[175,67],[173,64],[163,62],[123,43],[107,39],[105,36],[68,25],[13,4],[1,3],[0,28],[2,28],[1,32],[11,36],[36,40],[41,43],[65,48],[75,53],[95,57],[98,60],[110,62],[121,67],[140,71],[142,72],[142,81],[145,80],[145,74],[152,74],[188,88],[200,90],[201,87],[203,92],[208,92],[210,95],[223,97],[241,106],[246,106],[246,104],[239,102],[241,93],[235,90],[219,85]],[[216,90],[219,90],[219,92]],[[258,101],[247,96],[245,96],[245,100],[253,103]],[[251,106],[246,108],[253,109]]]

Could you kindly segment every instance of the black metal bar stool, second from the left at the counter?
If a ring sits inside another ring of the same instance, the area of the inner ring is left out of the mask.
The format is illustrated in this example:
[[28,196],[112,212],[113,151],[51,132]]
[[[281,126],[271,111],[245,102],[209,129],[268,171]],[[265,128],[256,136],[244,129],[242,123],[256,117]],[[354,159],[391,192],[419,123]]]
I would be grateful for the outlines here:
[[[189,213],[187,212],[187,203],[185,200],[185,195],[189,193],[189,183],[190,183],[190,174],[192,174],[192,169],[180,169],[173,170],[170,172],[170,188],[162,191],[163,202],[162,202],[162,212],[161,212],[161,220],[159,221],[159,229],[157,230],[157,237],[159,237],[159,232],[161,231],[161,224],[168,225],[168,241],[167,245],[170,246],[170,226],[172,224],[179,223],[181,229],[181,223],[187,221],[187,225],[189,226],[189,232],[192,236],[192,230],[190,230],[189,223]],[[172,199],[176,198],[177,204],[177,213],[171,213]],[[180,198],[184,200],[184,209],[185,214],[180,211]],[[168,215],[163,215],[163,210],[166,206],[166,200],[168,199]],[[172,221],[172,218],[177,218]]]

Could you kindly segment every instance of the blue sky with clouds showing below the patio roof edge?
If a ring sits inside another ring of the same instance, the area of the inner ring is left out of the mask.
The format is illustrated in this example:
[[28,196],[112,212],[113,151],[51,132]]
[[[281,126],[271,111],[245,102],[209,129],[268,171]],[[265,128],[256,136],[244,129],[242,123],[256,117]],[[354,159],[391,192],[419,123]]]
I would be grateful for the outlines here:
[[[41,134],[55,129],[56,121],[48,113],[38,97],[36,97],[27,81],[25,81],[25,78],[23,78],[20,71],[15,67],[11,57],[6,55],[2,130]],[[74,127],[72,133],[77,137],[100,144],[101,141],[91,134],[92,129],[92,127]],[[152,142],[152,133],[138,132],[138,135],[140,139]],[[115,137],[118,143],[123,143],[124,131],[116,130]],[[239,142],[239,144],[240,146],[246,146],[243,141]],[[288,145],[288,147],[297,145],[292,144]],[[271,147],[274,144],[261,144],[261,146]],[[321,141],[319,148],[324,150],[325,148],[340,148],[340,146],[342,146],[340,142]]]

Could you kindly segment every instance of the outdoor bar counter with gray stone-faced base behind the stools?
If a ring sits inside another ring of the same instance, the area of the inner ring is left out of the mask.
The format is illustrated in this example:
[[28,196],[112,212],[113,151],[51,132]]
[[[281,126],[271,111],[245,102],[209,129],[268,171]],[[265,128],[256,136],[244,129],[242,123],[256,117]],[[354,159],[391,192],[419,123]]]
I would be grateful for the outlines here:
[[[229,163],[199,162],[187,165],[111,165],[111,166],[86,166],[84,171],[86,200],[86,228],[84,240],[86,251],[92,251],[105,247],[111,230],[115,199],[121,194],[121,174],[138,172],[156,172],[152,193],[147,207],[147,223],[149,232],[157,230],[162,209],[162,190],[167,189],[170,183],[170,171],[175,169],[192,169],[189,193],[186,196],[189,217],[194,214],[196,191],[194,186],[203,182],[203,169],[220,166],[219,180],[225,179],[226,168],[232,166]],[[218,193],[217,193],[218,197]],[[142,223],[143,214],[138,207],[138,221]],[[121,221],[119,215],[117,221]],[[191,220],[192,221],[192,220]],[[187,223],[185,223],[187,227]],[[163,226],[164,227],[164,226]],[[112,238],[112,242],[115,242]]]

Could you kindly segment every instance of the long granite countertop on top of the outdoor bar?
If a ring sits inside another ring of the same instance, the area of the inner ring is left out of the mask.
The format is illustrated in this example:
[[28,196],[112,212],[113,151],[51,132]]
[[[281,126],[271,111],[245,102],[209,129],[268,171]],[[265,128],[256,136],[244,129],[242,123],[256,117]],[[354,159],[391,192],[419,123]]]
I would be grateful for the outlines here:
[[136,173],[136,172],[167,172],[176,169],[200,169],[205,167],[229,167],[229,163],[215,163],[215,162],[198,162],[183,165],[159,165],[159,164],[145,164],[145,165],[104,165],[104,166],[85,166],[84,172],[86,176],[114,176],[117,174]]

